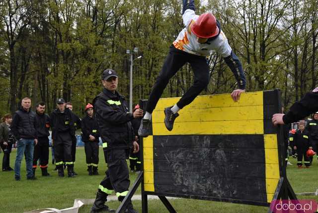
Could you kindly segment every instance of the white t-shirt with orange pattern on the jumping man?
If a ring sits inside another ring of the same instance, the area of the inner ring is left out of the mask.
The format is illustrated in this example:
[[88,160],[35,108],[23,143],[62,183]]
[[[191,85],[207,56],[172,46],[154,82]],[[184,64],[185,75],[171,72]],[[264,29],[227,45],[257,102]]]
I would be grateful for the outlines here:
[[217,38],[208,43],[200,44],[197,41],[197,36],[191,32],[191,26],[198,17],[199,15],[196,15],[192,9],[185,10],[182,15],[185,28],[179,33],[173,42],[173,46],[194,55],[210,56],[213,51],[216,51],[223,58],[228,57],[231,54],[232,48],[222,30]]

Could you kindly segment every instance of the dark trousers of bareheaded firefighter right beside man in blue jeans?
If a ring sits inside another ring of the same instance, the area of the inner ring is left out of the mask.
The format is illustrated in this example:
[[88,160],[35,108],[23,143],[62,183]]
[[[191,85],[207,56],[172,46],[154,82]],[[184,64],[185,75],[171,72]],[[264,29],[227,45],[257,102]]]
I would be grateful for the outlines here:
[[38,138],[38,144],[34,146],[33,168],[36,168],[38,159],[40,159],[40,167],[46,168],[49,164],[49,138]]

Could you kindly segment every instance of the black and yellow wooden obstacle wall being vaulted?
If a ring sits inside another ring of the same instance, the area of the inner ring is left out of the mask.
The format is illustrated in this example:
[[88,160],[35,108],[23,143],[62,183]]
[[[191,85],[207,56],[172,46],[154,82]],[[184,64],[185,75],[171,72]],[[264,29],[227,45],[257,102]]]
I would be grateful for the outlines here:
[[279,90],[243,93],[238,102],[199,96],[168,131],[163,109],[178,100],[159,100],[153,134],[143,138],[143,193],[268,206],[286,177],[281,128],[271,123]]

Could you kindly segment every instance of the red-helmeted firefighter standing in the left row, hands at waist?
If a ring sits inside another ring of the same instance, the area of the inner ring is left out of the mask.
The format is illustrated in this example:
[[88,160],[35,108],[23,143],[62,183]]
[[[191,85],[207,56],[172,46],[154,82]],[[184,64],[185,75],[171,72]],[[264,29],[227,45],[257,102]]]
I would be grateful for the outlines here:
[[91,104],[85,106],[86,116],[81,120],[81,140],[84,142],[88,175],[98,175],[98,122]]

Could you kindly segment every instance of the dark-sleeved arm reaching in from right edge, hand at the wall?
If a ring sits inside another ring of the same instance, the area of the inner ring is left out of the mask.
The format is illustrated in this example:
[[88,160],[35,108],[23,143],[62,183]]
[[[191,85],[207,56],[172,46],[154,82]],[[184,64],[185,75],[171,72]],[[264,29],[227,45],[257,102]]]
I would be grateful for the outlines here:
[[294,103],[289,112],[286,114],[276,113],[273,114],[272,122],[274,125],[287,124],[296,122],[311,113],[318,111],[318,87],[312,92],[306,93],[305,97],[299,102]]

